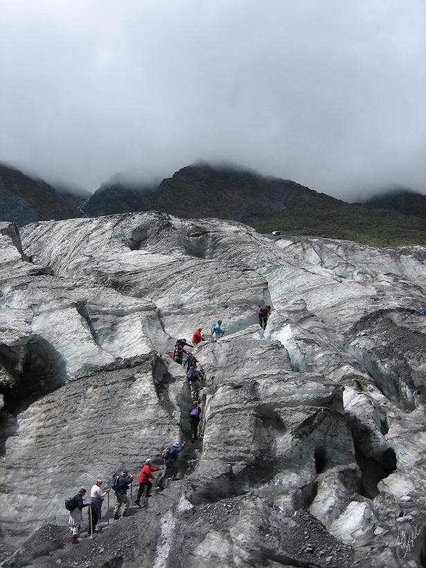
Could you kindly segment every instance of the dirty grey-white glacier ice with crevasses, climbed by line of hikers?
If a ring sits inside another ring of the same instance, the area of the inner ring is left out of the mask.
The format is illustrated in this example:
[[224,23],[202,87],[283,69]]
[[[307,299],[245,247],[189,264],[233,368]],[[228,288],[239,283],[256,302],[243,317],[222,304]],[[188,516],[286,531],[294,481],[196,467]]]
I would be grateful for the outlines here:
[[[2,233],[6,565],[424,565],[425,247],[153,212]],[[219,318],[191,444],[170,352]],[[71,555],[64,499],[177,439],[183,479]]]

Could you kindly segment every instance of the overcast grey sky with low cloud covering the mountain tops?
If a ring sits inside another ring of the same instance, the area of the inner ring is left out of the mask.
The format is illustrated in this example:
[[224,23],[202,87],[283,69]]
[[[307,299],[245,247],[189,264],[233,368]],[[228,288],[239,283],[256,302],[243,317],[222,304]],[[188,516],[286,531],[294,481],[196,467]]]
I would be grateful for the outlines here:
[[227,159],[426,194],[425,0],[0,0],[0,161],[95,190]]

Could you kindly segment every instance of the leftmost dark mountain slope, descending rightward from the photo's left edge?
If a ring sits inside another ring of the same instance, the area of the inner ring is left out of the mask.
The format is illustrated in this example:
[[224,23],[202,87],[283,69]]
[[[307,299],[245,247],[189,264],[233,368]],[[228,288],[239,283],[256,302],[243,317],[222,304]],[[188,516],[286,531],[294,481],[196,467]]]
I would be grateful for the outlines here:
[[0,220],[18,225],[82,217],[81,211],[45,181],[32,179],[4,164],[0,164],[0,204]]

